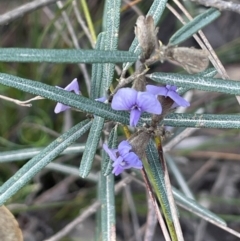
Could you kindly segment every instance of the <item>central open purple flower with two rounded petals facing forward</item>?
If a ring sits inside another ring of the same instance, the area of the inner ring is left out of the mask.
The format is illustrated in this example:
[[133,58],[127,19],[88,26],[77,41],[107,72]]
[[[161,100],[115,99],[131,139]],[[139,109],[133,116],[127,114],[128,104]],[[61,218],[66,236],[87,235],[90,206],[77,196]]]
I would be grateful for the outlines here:
[[130,111],[130,126],[136,126],[143,112],[161,114],[162,106],[156,96],[149,92],[140,92],[131,88],[122,88],[113,96],[114,110]]

